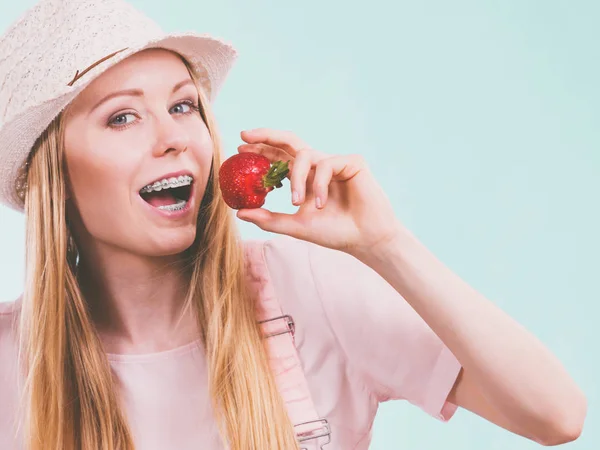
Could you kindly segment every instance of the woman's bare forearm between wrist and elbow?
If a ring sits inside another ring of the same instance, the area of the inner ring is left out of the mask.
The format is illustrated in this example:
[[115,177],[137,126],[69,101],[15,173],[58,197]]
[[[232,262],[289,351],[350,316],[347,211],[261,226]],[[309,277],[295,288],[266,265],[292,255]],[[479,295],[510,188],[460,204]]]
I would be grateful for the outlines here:
[[408,230],[357,257],[411,304],[502,415],[535,428],[582,421],[585,399],[558,359]]

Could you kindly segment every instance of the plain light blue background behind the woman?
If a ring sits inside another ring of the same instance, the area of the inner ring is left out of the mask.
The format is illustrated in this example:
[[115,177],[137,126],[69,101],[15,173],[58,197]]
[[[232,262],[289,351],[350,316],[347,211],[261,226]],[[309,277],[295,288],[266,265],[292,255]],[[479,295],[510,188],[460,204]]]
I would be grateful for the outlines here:
[[[0,28],[33,3],[2,1]],[[132,3],[239,49],[216,103],[228,154],[258,126],[364,154],[404,223],[560,357],[589,400],[567,447],[600,448],[600,3]],[[289,188],[267,206],[292,211]],[[0,207],[2,300],[21,291],[23,239],[23,218]],[[464,410],[442,424],[389,403],[371,448],[539,446]]]

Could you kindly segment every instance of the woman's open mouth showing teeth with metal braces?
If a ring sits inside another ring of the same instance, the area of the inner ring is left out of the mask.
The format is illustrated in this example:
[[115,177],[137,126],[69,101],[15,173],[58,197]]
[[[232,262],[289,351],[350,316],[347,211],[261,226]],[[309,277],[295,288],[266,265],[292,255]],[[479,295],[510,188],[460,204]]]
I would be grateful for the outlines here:
[[189,175],[163,178],[140,190],[140,196],[151,206],[163,211],[184,209],[192,195],[194,179]]

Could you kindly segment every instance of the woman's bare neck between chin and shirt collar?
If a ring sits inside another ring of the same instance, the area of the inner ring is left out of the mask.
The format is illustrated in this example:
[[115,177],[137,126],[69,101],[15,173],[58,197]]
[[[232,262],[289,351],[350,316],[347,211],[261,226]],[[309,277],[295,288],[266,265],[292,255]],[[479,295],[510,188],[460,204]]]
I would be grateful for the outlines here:
[[81,258],[78,278],[108,353],[160,352],[199,337],[193,311],[184,311],[189,269],[181,255],[95,250]]

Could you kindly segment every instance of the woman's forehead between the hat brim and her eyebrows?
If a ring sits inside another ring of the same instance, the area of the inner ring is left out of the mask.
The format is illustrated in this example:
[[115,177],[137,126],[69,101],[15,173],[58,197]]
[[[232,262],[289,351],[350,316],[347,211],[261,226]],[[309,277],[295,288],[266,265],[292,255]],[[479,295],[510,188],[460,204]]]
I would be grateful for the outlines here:
[[189,79],[181,57],[164,49],[147,49],[118,62],[87,86],[71,104],[77,110],[99,98],[123,89],[172,89]]

